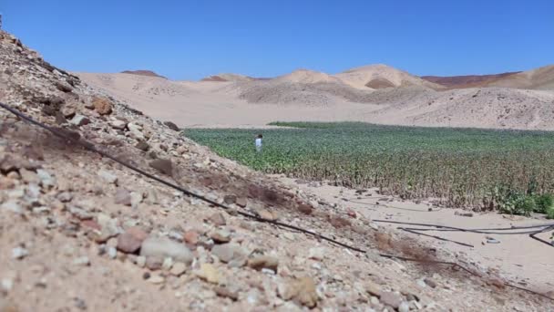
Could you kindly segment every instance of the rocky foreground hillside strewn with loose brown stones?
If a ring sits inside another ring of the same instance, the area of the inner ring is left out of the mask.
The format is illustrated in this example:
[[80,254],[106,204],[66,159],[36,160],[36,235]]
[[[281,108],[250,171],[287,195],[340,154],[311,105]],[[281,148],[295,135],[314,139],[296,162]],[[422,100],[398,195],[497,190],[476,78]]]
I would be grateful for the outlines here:
[[[545,311],[342,205],[285,187],[184,139],[0,32],[0,101],[87,146],[218,203],[151,181],[0,109],[0,311]],[[363,248],[257,223],[305,227]]]

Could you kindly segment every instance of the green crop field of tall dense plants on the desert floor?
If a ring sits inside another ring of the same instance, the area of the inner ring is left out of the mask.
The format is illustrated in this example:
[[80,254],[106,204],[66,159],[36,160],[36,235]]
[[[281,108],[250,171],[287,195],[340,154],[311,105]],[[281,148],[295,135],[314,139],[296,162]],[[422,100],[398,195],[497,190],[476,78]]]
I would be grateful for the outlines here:
[[[456,207],[554,216],[554,132],[274,122],[269,130],[189,129],[192,140],[251,168],[379,187]],[[253,140],[263,134],[263,150]]]

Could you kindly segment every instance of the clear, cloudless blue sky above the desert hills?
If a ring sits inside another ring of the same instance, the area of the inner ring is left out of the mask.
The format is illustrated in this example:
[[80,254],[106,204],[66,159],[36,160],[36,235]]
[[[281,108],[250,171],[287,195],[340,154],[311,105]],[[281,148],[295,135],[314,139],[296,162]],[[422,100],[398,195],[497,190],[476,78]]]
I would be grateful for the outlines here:
[[58,67],[173,79],[385,63],[416,75],[554,63],[554,0],[2,0],[4,28]]

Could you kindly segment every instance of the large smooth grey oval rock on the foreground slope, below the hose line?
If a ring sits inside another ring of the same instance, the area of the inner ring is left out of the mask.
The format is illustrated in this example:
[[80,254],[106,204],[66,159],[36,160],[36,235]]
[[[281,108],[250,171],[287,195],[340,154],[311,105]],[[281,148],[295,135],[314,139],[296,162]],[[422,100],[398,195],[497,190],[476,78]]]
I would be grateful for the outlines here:
[[140,247],[140,255],[144,255],[147,258],[154,256],[161,259],[171,257],[175,261],[180,261],[187,265],[190,265],[194,259],[194,255],[192,255],[187,246],[166,237],[149,237],[144,240]]

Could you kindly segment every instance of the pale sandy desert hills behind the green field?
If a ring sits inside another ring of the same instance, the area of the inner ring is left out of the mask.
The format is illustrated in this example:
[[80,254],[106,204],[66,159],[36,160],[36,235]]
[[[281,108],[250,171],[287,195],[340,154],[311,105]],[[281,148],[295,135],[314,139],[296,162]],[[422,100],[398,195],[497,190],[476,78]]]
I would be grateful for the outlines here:
[[[170,81],[77,74],[132,107],[182,127],[262,127],[275,120],[359,120],[439,127],[554,130],[554,92],[515,88],[437,91],[352,88],[308,71],[269,80]],[[399,82],[401,80],[394,80]]]

